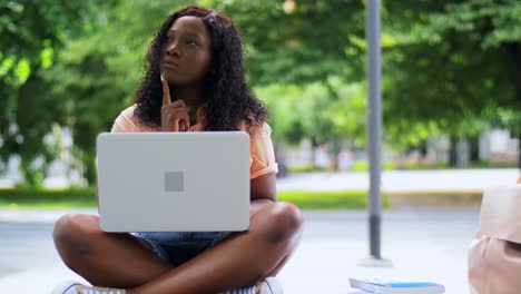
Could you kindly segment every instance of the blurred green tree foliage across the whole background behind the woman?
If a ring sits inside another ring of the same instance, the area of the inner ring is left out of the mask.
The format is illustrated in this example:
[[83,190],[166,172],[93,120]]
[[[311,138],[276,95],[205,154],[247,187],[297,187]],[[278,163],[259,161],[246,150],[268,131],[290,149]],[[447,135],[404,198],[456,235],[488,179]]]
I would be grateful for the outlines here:
[[[46,135],[67,127],[92,184],[96,136],[131,104],[153,33],[186,4],[234,20],[277,139],[363,147],[364,1],[4,0],[1,163],[20,156],[26,180],[38,185],[57,155]],[[521,133],[520,14],[517,0],[383,1],[385,139],[419,144],[491,122]]]

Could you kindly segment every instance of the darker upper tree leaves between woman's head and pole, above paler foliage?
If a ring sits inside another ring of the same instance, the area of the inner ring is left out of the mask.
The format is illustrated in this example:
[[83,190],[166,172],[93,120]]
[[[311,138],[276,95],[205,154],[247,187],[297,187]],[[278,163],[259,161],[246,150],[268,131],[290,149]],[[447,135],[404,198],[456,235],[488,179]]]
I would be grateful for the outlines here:
[[239,28],[253,86],[364,79],[364,6],[343,0],[215,1]]

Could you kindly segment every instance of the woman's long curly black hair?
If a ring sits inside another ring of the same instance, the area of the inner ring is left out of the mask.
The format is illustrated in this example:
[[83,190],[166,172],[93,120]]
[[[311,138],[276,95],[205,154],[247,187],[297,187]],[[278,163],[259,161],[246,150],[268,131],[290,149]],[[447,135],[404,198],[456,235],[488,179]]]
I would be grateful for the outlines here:
[[[212,39],[212,61],[204,88],[206,130],[237,130],[245,119],[260,126],[267,109],[249,90],[243,69],[243,41],[232,20],[223,13],[201,7],[186,7],[170,14],[156,32],[145,60],[145,75],[136,92],[135,116],[150,127],[160,126],[163,87],[159,63],[167,31],[180,17],[203,20]],[[175,96],[175,89],[171,89]],[[173,97],[175,99],[175,97]]]

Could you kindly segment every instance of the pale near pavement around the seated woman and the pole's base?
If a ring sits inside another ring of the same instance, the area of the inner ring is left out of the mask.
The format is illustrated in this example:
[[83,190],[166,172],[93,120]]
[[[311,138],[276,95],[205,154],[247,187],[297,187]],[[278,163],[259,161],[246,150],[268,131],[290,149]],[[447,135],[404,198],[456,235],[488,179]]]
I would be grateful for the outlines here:
[[[52,245],[52,222],[62,213],[0,210],[1,293],[50,293],[60,281],[80,280]],[[382,252],[394,266],[374,268],[357,266],[368,252],[364,212],[305,212],[303,242],[279,280],[289,294],[350,293],[354,275],[429,280],[446,293],[468,293],[466,248],[478,216],[478,207],[385,212]]]

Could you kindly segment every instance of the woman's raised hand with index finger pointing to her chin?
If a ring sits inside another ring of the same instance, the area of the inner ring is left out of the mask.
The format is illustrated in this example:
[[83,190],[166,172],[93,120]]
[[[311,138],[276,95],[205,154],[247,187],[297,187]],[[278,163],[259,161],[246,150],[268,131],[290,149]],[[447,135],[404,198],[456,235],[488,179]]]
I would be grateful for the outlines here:
[[190,127],[188,116],[189,108],[181,99],[171,101],[168,82],[161,75],[163,106],[161,106],[161,130],[163,131],[187,131]]

